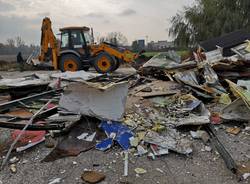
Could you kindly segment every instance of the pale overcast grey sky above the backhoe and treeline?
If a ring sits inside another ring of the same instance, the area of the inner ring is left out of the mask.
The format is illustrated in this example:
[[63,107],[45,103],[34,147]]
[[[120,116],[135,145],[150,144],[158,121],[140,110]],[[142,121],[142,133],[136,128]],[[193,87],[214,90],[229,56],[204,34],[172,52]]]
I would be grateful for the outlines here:
[[135,39],[166,40],[169,19],[194,0],[0,0],[0,42],[21,36],[39,44],[43,17],[54,33],[63,26],[93,27],[96,37],[120,31]]

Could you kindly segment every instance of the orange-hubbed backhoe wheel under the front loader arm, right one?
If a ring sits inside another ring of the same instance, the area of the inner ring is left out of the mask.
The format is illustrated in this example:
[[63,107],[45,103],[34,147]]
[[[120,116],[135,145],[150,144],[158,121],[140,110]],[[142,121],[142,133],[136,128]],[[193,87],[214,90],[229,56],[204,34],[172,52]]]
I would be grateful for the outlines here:
[[115,61],[108,53],[103,52],[96,56],[93,65],[98,73],[109,73],[113,71]]

